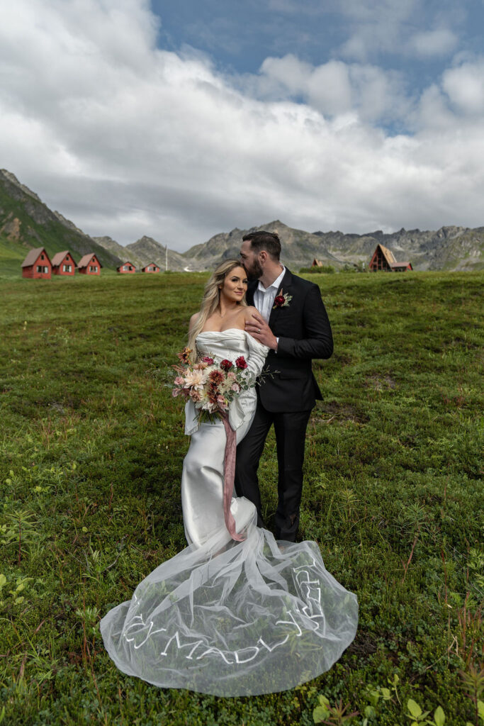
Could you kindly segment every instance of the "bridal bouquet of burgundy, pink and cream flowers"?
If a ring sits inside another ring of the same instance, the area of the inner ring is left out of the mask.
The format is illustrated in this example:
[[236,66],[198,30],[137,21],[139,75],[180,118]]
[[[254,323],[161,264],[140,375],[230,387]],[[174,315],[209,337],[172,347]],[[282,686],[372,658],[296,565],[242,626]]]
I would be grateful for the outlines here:
[[189,348],[178,354],[179,365],[174,365],[176,378],[172,395],[191,399],[200,412],[200,420],[221,416],[229,409],[230,402],[253,385],[252,375],[247,370],[244,356],[235,362],[227,359],[216,363],[210,356],[204,356],[196,363],[190,361]]

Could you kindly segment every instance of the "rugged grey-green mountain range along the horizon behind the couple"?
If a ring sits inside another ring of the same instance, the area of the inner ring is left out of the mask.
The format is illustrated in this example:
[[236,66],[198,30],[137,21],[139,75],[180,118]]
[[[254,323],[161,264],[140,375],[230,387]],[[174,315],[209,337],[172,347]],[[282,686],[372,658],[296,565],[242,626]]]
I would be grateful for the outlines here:
[[[223,258],[237,257],[247,232],[266,229],[277,232],[282,242],[283,261],[291,269],[311,266],[316,258],[324,265],[341,268],[367,264],[380,242],[393,251],[398,261],[411,261],[414,269],[470,270],[484,268],[484,227],[441,227],[435,232],[400,229],[366,234],[305,232],[276,220],[252,227],[215,234],[207,242],[179,253],[166,249],[152,237],[141,237],[120,245],[111,237],[89,237],[60,212],[51,211],[12,172],[0,170],[0,266],[11,266],[24,258],[30,248],[44,246],[53,255],[69,249],[75,258],[97,253],[101,264],[116,267],[131,261],[135,266],[157,263],[170,270],[212,269]],[[13,267],[12,267],[13,269]]]

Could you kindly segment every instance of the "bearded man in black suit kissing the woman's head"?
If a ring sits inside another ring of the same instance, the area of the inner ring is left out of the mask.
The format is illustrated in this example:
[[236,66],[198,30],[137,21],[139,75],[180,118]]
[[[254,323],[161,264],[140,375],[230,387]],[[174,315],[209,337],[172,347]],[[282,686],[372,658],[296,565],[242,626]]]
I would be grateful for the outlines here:
[[264,443],[274,424],[279,479],[276,539],[294,542],[303,490],[305,431],[321,391],[311,370],[313,358],[333,351],[331,326],[319,287],[292,274],[279,262],[281,242],[272,232],[242,237],[240,257],[254,280],[247,303],[258,309],[247,333],[270,348],[261,386],[257,387],[255,418],[237,446],[235,488],[255,504],[263,526],[257,470]]

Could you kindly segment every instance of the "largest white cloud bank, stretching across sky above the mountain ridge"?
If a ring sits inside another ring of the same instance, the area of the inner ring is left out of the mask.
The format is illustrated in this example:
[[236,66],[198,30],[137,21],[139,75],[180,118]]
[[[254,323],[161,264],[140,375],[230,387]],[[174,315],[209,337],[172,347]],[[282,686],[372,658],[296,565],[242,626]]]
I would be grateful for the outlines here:
[[448,70],[414,136],[389,136],[375,119],[414,102],[394,73],[287,56],[240,89],[206,57],[160,51],[156,33],[141,0],[17,0],[2,14],[1,166],[86,232],[184,250],[277,218],[483,224],[480,66]]

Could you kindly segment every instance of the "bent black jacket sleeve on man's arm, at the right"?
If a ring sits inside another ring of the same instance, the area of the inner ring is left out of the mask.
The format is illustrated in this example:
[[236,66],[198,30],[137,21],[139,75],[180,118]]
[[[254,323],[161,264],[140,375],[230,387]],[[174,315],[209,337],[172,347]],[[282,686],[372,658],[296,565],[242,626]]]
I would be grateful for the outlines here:
[[302,325],[304,338],[300,340],[279,336],[277,357],[330,358],[333,352],[333,336],[317,285],[311,285],[305,296]]

